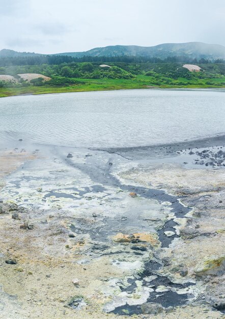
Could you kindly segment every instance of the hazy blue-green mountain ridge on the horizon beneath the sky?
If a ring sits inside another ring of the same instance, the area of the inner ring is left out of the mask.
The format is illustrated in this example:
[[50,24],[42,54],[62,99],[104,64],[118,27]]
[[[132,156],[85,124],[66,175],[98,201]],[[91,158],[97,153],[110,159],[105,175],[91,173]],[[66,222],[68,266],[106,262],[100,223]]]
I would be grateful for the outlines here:
[[[13,50],[3,49],[0,51],[1,57],[31,57],[41,56],[40,54],[30,52],[16,52]],[[136,46],[136,45],[113,45],[106,47],[97,47],[83,52],[64,52],[55,54],[57,56],[70,56],[81,58],[90,57],[119,57],[119,56],[136,56],[136,57],[157,57],[165,59],[167,57],[184,56],[196,59],[225,59],[225,47],[219,44],[206,44],[202,42],[187,43],[164,43],[156,46]]]

